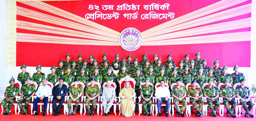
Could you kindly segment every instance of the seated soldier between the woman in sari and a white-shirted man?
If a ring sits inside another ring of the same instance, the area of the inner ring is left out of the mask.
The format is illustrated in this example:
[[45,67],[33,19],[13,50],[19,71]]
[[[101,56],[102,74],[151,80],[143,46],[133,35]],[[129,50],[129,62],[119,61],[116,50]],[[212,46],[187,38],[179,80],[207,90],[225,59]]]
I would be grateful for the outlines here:
[[145,116],[146,114],[148,116],[151,116],[150,114],[150,107],[152,104],[152,97],[154,93],[154,87],[149,85],[150,79],[147,78],[144,85],[141,85],[140,87],[140,96],[141,96],[141,102],[144,109],[144,113],[142,114]]

